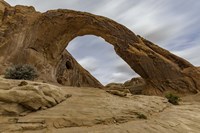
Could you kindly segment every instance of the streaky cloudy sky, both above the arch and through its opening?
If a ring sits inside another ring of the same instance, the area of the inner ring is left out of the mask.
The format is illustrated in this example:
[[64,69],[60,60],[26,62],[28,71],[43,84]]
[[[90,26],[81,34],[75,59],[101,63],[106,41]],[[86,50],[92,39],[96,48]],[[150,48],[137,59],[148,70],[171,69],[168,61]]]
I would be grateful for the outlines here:
[[[200,0],[6,0],[40,12],[72,9],[109,17],[159,46],[200,66]],[[137,76],[111,45],[96,36],[77,37],[67,47],[101,83]]]

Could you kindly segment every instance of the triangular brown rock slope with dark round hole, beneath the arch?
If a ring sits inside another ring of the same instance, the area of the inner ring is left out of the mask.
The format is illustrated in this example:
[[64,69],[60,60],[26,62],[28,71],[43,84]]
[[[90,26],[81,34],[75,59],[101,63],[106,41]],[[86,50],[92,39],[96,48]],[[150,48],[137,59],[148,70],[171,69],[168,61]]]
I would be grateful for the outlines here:
[[62,85],[103,87],[97,79],[78,64],[67,50],[64,50],[62,54],[60,65],[57,68],[56,78],[57,82]]

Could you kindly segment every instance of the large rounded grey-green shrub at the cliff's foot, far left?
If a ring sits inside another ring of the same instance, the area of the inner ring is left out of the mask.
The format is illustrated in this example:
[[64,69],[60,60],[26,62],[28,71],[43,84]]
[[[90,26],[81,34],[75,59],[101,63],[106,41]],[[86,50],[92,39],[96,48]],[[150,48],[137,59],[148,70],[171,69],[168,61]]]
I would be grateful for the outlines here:
[[24,79],[34,80],[38,77],[37,69],[31,65],[13,65],[6,69],[5,78],[7,79]]

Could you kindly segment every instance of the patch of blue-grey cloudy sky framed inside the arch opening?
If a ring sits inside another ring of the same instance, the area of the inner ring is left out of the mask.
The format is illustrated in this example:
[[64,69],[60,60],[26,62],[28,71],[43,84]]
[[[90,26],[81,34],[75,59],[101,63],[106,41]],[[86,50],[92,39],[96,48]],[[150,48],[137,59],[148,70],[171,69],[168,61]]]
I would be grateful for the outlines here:
[[[107,43],[101,37],[94,35],[76,37],[70,41],[66,49],[83,68],[103,85],[124,83],[133,77],[139,77],[116,54],[113,45]],[[87,80],[87,78],[84,80]]]

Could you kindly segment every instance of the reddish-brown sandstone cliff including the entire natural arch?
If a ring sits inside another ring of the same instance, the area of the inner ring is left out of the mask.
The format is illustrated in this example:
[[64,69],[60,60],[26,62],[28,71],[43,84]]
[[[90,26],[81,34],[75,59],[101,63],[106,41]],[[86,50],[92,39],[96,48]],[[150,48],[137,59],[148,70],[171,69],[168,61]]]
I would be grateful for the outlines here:
[[144,94],[167,90],[195,93],[200,89],[200,72],[192,64],[111,19],[72,10],[39,13],[32,7],[1,6],[6,7],[1,8],[1,73],[10,64],[30,63],[47,81],[101,86],[65,50],[77,36],[96,35],[113,45],[116,53],[145,79]]

